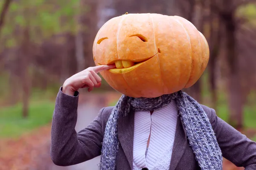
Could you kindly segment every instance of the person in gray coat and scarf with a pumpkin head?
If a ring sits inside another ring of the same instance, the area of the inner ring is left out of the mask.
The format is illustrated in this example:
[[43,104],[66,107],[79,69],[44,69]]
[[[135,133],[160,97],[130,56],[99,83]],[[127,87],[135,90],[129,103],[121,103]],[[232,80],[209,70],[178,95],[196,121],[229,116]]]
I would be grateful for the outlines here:
[[[100,170],[221,170],[222,156],[256,170],[256,142],[181,91],[203,74],[209,47],[178,16],[125,14],[105,23],[93,44],[95,67],[68,78],[52,120],[52,161],[79,164],[101,155]],[[123,95],[75,130],[79,88],[101,78]]]

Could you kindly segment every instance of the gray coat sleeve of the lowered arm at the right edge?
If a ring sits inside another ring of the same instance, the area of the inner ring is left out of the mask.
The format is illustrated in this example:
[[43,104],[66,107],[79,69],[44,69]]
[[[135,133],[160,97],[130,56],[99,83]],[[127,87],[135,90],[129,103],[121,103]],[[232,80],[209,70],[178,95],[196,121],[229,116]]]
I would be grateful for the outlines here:
[[220,119],[213,109],[211,124],[224,158],[245,170],[256,170],[256,142]]

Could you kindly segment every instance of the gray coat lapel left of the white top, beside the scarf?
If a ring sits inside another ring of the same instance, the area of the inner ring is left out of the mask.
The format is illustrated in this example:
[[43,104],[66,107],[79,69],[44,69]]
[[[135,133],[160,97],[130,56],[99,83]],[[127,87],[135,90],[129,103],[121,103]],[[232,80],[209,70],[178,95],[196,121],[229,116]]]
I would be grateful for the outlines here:
[[117,135],[132,170],[134,142],[134,111],[128,116],[120,116],[117,123]]

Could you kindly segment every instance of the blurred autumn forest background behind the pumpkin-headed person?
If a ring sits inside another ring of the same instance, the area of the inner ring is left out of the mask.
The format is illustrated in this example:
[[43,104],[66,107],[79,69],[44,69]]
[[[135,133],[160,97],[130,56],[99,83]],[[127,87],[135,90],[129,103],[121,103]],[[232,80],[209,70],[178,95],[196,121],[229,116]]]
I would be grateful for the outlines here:
[[[58,89],[94,66],[97,31],[125,12],[192,22],[207,38],[210,59],[185,91],[256,141],[255,0],[0,0],[0,170],[51,169],[46,162]],[[114,105],[119,96],[103,82],[93,93],[81,91],[79,105]],[[84,115],[92,108],[83,109]],[[224,161],[224,170],[236,170]]]

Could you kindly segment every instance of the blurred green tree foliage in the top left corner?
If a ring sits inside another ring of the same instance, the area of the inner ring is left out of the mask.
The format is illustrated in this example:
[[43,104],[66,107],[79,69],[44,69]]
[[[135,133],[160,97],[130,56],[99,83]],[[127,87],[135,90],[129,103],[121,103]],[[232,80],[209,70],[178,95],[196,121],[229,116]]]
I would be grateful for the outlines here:
[[[55,34],[73,33],[77,29],[76,15],[84,15],[88,8],[80,8],[80,0],[20,0],[12,2],[3,26],[3,36],[8,37],[7,47],[18,45],[22,35],[15,36],[14,29],[29,28],[30,39],[40,43]],[[1,6],[1,3],[0,3]]]

